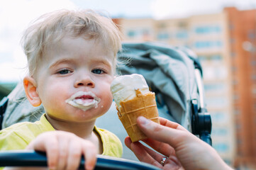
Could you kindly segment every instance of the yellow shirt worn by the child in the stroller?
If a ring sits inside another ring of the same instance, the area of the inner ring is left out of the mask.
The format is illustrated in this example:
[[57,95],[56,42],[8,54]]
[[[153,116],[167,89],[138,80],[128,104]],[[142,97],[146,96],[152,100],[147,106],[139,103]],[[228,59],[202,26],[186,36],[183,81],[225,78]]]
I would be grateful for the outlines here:
[[[11,125],[0,131],[0,151],[25,149],[40,133],[55,130],[45,118],[45,114],[35,123],[23,122]],[[123,147],[121,141],[108,130],[94,127],[102,141],[103,155],[121,157]]]

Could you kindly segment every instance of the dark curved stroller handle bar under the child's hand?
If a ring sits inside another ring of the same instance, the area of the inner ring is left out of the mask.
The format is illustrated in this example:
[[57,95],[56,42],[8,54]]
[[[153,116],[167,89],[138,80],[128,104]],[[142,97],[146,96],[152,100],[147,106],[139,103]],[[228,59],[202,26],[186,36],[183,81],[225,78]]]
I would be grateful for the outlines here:
[[[79,169],[84,169],[84,157],[82,157]],[[0,152],[0,166],[47,166],[47,157],[45,152],[30,151],[6,151]],[[156,166],[143,162],[136,162],[129,159],[121,159],[97,155],[96,170],[160,170]]]

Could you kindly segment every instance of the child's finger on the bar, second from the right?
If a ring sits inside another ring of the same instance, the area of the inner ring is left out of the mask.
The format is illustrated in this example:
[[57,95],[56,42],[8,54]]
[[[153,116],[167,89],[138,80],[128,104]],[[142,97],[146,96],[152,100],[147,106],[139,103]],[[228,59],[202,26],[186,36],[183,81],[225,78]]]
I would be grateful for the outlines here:
[[67,158],[67,169],[78,169],[82,157],[82,145],[77,140],[69,142],[69,155]]

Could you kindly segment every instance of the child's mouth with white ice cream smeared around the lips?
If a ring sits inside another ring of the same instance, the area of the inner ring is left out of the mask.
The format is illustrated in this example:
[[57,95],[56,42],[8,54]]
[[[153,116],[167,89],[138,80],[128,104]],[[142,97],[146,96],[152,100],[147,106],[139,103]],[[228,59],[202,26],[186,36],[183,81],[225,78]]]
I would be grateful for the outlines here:
[[101,99],[91,91],[78,91],[68,98],[66,103],[75,108],[81,108],[83,111],[87,111],[90,108],[97,108],[100,101]]

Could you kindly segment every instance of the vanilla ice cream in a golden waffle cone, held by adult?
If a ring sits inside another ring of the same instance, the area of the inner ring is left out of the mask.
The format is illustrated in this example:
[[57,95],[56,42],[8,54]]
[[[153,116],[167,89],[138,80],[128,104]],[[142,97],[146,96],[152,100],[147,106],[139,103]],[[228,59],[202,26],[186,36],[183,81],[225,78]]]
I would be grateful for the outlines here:
[[150,91],[144,77],[131,74],[116,77],[111,84],[113,99],[116,101],[118,118],[132,142],[147,137],[137,126],[137,118],[144,116],[159,123],[155,93]]

